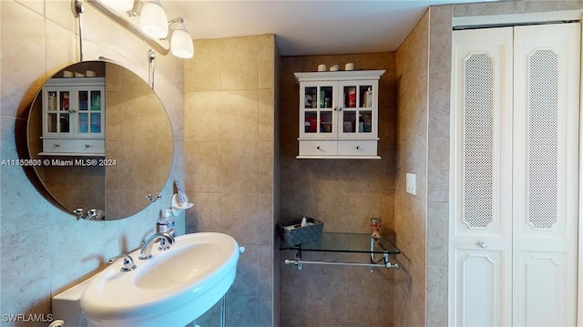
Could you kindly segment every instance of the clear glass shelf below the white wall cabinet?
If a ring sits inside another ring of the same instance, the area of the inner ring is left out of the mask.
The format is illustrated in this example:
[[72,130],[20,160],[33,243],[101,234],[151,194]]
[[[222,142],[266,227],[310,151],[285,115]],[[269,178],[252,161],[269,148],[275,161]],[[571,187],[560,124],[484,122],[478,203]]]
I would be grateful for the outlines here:
[[280,250],[381,254],[401,253],[394,246],[393,242],[384,236],[381,239],[372,239],[370,234],[329,232],[322,233],[320,240],[313,240],[296,246],[286,246],[284,242],[280,242]]

